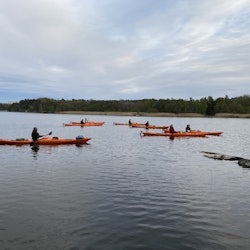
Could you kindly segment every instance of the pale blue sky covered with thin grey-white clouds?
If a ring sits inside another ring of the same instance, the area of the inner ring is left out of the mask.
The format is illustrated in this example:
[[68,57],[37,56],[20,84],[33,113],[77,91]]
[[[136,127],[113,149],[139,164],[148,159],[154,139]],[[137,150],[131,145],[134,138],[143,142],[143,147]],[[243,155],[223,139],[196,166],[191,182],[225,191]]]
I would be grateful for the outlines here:
[[0,102],[245,94],[249,0],[0,0]]

